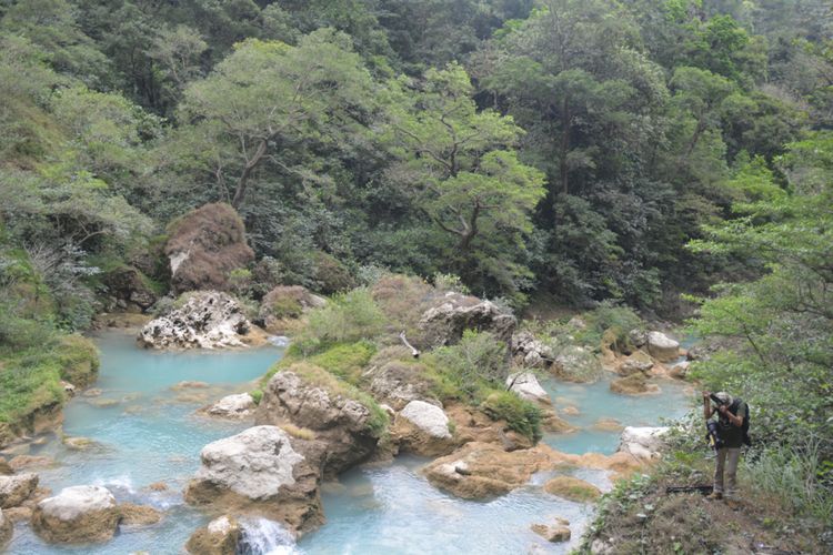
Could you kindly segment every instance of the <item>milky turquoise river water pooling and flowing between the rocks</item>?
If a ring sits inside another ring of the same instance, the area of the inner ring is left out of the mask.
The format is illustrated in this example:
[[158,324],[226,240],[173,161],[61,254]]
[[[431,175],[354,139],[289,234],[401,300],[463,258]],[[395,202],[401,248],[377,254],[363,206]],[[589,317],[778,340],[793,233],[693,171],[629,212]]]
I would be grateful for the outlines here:
[[[194,411],[222,395],[251,389],[249,382],[282,354],[279,347],[155,353],[138,349],[131,336],[118,332],[102,334],[97,341],[102,364],[96,387],[102,393],[72,400],[63,426],[67,436],[89,438],[91,446],[72,451],[57,437],[44,437],[11,454],[57,461],[54,467],[34,470],[41,485],[56,492],[69,485],[104,485],[119,502],[152,505],[164,511],[164,517],[150,527],[122,526],[111,542],[83,547],[49,546],[27,525],[18,524],[9,553],[183,553],[190,534],[209,519],[185,505],[181,495],[199,466],[199,452],[207,443],[245,427],[244,423],[208,420]],[[182,384],[189,381],[200,383]],[[623,425],[656,425],[663,417],[685,412],[690,396],[685,390],[668,380],[659,383],[660,394],[638,397],[611,393],[606,380],[590,385],[544,383],[558,407],[578,410],[564,417],[579,428],[572,434],[548,435],[544,442],[571,453],[614,452],[619,431],[610,418]],[[593,427],[600,418],[609,418],[603,422],[608,427]],[[338,482],[324,484],[327,524],[298,545],[275,523],[244,521],[240,553],[565,553],[579,541],[591,516],[588,505],[544,493],[542,485],[550,477],[545,474],[496,500],[469,502],[432,487],[419,473],[424,463],[401,456],[392,464],[354,468]],[[575,468],[572,474],[602,491],[611,487],[603,471]],[[149,488],[158,483],[167,490]],[[530,525],[555,517],[571,522],[573,539],[569,544],[549,544],[530,531]]]

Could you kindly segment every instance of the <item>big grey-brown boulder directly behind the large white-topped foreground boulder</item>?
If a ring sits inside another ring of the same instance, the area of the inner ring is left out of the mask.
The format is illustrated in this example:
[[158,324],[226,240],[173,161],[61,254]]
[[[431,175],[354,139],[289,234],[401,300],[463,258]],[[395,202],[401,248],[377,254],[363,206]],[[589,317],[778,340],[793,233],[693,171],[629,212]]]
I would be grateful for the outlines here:
[[378,415],[352,393],[328,372],[295,364],[269,381],[255,422],[311,431],[324,473],[334,475],[370,458],[379,441]]

